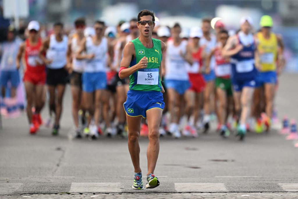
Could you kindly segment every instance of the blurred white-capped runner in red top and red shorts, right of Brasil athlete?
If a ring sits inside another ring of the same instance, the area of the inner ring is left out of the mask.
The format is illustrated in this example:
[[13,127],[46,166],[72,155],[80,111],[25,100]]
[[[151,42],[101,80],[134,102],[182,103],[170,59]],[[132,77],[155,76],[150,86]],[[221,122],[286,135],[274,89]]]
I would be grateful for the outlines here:
[[[199,42],[200,38],[203,36],[202,30],[199,27],[192,27],[190,29],[190,38],[191,41],[188,43],[190,49],[193,65],[187,63],[187,72],[190,79],[190,88],[186,91],[186,97],[190,99],[191,102],[190,108],[187,114],[188,124],[184,128],[184,135],[191,135],[197,137],[197,130],[195,124],[198,121],[200,108],[202,105],[202,96],[201,94],[205,88],[205,80],[201,74],[202,59],[205,56],[204,48],[200,47]],[[190,120],[190,116],[193,116]]]

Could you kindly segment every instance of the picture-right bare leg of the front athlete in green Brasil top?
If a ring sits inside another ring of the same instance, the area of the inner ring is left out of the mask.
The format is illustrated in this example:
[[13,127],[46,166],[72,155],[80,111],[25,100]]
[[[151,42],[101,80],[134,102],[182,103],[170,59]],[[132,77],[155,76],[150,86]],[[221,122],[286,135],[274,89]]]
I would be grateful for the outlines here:
[[148,173],[154,173],[159,154],[159,125],[162,120],[162,109],[153,108],[146,111],[149,129],[149,144],[147,148]]

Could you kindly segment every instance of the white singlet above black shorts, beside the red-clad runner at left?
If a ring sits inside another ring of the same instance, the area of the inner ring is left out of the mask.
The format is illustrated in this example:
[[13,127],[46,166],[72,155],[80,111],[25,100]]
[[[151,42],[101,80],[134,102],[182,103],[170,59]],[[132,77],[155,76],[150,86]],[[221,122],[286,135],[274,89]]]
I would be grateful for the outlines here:
[[47,65],[48,68],[59,69],[66,65],[67,41],[66,35],[63,35],[61,42],[56,40],[55,34],[50,36],[50,45],[46,51],[46,58],[52,60],[52,63]]

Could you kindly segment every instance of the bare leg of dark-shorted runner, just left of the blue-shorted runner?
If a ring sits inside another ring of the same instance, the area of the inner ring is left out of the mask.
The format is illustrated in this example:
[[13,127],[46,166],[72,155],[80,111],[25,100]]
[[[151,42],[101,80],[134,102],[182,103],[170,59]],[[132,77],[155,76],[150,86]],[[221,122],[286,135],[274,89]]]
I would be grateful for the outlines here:
[[81,95],[82,90],[78,86],[71,86],[71,92],[72,92],[72,117],[75,123],[75,127],[79,127],[79,109],[81,104]]

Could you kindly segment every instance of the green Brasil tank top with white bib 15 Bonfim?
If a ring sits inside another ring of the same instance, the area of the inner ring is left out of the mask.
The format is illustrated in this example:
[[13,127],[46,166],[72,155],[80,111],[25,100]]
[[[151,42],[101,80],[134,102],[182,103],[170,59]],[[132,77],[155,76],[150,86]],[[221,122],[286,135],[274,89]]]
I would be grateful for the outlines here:
[[135,91],[161,91],[162,84],[159,76],[159,66],[162,62],[162,47],[159,39],[153,39],[153,48],[146,48],[142,45],[139,38],[131,41],[134,44],[136,58],[131,61],[129,67],[139,63],[146,56],[148,58],[148,67],[140,69],[129,76],[129,89]]

